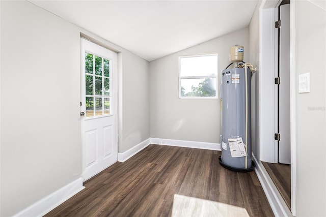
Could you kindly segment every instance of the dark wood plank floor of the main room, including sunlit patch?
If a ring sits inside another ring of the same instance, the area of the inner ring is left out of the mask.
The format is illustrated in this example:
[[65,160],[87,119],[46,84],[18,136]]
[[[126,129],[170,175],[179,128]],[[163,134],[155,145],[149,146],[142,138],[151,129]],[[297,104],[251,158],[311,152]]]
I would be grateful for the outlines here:
[[274,216],[255,172],[223,168],[220,154],[149,145],[45,216]]

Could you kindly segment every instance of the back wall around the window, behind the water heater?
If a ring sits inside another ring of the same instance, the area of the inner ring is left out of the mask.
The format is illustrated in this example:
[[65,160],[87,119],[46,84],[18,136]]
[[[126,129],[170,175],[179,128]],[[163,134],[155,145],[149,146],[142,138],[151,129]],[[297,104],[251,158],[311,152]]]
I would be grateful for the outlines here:
[[151,137],[220,143],[220,99],[178,99],[178,56],[218,53],[220,74],[235,44],[244,46],[248,61],[249,29],[243,28],[150,62]]

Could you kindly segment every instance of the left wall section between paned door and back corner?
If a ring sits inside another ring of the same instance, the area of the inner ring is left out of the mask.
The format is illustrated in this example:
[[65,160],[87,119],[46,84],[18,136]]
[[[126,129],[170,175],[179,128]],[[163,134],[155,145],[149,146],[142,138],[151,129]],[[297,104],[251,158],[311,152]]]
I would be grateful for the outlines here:
[[[148,139],[149,136],[149,63],[130,52],[123,53],[122,114],[119,127],[119,153]],[[121,115],[119,114],[119,115]]]

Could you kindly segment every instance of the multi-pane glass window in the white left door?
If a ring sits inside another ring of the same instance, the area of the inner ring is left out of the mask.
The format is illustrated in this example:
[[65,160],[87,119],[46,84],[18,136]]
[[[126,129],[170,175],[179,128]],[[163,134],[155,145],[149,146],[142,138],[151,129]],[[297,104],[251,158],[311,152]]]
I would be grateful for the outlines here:
[[111,114],[110,62],[85,52],[86,118]]

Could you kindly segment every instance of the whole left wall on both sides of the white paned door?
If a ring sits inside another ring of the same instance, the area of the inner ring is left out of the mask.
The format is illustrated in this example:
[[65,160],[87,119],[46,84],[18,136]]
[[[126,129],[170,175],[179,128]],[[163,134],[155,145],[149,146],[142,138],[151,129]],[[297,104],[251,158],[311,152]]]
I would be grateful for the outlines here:
[[149,64],[29,2],[0,4],[0,215],[10,216],[80,177],[80,32],[120,52],[119,150],[149,138]]

